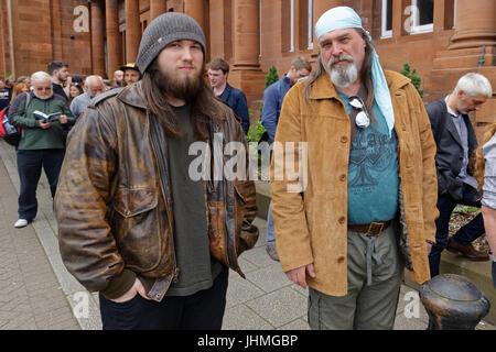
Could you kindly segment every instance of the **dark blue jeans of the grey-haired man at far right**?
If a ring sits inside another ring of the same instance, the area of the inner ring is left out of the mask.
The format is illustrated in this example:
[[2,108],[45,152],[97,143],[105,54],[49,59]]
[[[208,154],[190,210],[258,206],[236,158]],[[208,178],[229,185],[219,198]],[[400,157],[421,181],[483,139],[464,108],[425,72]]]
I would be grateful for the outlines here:
[[[454,199],[449,194],[439,195],[438,198],[439,218],[438,220],[435,220],[435,228],[436,228],[435,244],[432,246],[431,254],[429,254],[429,266],[431,270],[431,277],[439,275],[441,252],[448,245],[451,213],[459,204],[481,208],[481,195],[475,188],[468,186],[467,184],[463,184],[463,198],[460,200]],[[453,235],[453,240],[455,240],[460,244],[465,245],[471,243],[472,241],[474,241],[484,233],[485,233],[484,219],[482,213],[479,213],[474,219],[472,219],[472,221],[460,228],[460,230],[456,231],[456,233]]]

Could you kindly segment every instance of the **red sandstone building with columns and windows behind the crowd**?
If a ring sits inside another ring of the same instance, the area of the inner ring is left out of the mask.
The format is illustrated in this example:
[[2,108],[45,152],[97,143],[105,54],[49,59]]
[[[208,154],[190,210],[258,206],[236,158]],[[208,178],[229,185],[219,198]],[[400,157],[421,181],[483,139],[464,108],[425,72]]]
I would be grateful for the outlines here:
[[[255,112],[270,66],[282,75],[294,56],[315,61],[314,23],[336,6],[360,14],[385,68],[417,68],[425,101],[446,95],[467,72],[485,75],[496,90],[494,0],[1,0],[0,77],[30,75],[53,59],[74,75],[111,77],[134,62],[148,23],[177,11],[202,25],[207,62],[229,62],[229,82]],[[495,118],[493,98],[475,117],[478,133]]]

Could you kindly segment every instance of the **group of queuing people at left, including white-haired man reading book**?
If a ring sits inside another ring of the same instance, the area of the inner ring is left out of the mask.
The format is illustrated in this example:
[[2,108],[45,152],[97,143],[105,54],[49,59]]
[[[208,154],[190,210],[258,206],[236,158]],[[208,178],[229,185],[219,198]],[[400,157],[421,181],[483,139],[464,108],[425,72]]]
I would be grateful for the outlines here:
[[[118,87],[138,80],[136,75],[128,76],[131,78],[127,80],[125,75],[120,77]],[[61,61],[48,63],[46,72],[21,76],[15,82],[0,79],[0,111],[4,109],[9,122],[21,129],[21,139],[15,146],[20,195],[14,228],[23,228],[36,217],[36,188],[42,169],[52,197],[55,196],[68,131],[89,101],[118,87],[97,75],[84,80],[79,76],[73,77],[68,64]]]

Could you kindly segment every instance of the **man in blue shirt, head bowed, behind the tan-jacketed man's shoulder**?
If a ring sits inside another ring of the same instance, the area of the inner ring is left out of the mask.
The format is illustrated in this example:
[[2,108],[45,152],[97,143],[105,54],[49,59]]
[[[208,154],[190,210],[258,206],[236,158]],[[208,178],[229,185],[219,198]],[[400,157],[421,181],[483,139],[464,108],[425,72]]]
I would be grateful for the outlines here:
[[[263,108],[261,123],[269,134],[269,143],[273,142],[276,128],[278,127],[279,114],[281,113],[282,100],[288,90],[299,80],[310,75],[312,65],[304,57],[295,57],[291,62],[288,74],[283,75],[277,82],[267,87],[263,92]],[[267,215],[267,241],[266,249],[269,256],[279,261],[276,251],[276,231],[272,220],[272,202],[269,205]]]

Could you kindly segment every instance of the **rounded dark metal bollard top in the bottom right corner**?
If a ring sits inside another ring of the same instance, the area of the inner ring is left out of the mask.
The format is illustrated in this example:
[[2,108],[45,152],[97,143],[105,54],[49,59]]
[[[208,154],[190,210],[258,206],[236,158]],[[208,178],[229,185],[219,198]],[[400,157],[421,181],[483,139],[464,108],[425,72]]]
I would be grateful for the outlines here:
[[438,275],[420,287],[428,330],[474,330],[490,308],[489,299],[464,276]]

